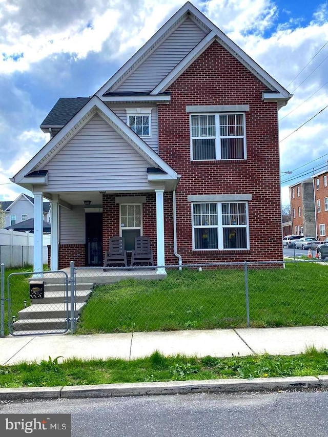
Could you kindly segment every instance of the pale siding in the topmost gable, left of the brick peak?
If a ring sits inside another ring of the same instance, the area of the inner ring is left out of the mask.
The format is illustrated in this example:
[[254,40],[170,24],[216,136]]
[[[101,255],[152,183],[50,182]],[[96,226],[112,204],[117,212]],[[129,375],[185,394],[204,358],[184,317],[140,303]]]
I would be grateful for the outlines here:
[[206,33],[187,18],[124,82],[111,91],[152,91],[205,36]]

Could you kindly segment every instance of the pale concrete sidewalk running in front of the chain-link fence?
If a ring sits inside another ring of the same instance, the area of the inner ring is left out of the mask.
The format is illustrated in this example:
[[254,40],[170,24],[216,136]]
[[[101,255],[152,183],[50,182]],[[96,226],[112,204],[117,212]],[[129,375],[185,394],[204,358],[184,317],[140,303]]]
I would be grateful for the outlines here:
[[[130,360],[159,350],[164,355],[231,357],[295,355],[306,347],[328,349],[328,326],[134,332],[98,335],[46,335],[0,338],[0,365],[40,362],[58,356]],[[60,362],[60,360],[58,360]]]

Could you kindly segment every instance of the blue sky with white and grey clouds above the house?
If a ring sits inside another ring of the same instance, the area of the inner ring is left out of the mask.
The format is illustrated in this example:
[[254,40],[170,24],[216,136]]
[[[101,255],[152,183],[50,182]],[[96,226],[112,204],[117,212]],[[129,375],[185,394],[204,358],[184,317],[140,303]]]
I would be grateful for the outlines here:
[[[49,139],[39,124],[57,99],[94,94],[184,3],[0,0],[0,201],[22,192],[9,178]],[[279,111],[282,203],[289,203],[286,187],[328,160],[328,108],[315,116],[328,105],[328,5],[192,3],[294,94]]]

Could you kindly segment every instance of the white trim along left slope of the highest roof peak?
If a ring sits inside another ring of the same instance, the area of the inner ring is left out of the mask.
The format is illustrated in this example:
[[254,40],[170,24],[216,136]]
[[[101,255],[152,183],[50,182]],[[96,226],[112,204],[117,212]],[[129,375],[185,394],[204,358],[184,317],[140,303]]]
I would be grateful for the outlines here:
[[182,6],[172,17],[147,41],[147,43],[142,46],[127,62],[122,66],[107,82],[105,85],[103,85],[96,93],[95,95],[101,97],[112,85],[115,84],[115,82],[122,76],[124,76],[127,71],[137,62],[137,60],[141,57],[143,57],[148,50],[151,49],[153,45],[156,44],[156,41],[160,39],[166,32],[170,30],[172,26],[174,26],[179,19],[182,18],[183,15],[185,15],[188,10],[190,10],[190,7],[192,4],[190,2],[187,2],[185,5]]

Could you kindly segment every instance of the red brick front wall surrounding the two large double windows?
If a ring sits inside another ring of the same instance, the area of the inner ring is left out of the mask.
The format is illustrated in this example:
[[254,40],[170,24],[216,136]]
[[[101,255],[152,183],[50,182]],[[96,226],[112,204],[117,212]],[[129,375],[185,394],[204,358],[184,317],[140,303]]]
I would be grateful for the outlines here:
[[[171,103],[158,105],[159,155],[182,175],[176,199],[177,252],[183,263],[280,260],[281,246],[268,245],[270,236],[282,235],[277,103],[263,102],[262,92],[268,89],[214,42],[169,91]],[[186,106],[247,104],[247,159],[191,161]],[[252,195],[250,250],[193,251],[191,203],[187,196],[199,194]]]

